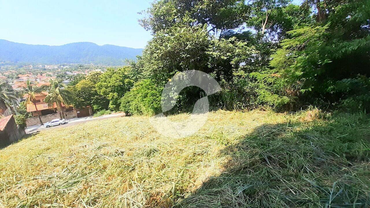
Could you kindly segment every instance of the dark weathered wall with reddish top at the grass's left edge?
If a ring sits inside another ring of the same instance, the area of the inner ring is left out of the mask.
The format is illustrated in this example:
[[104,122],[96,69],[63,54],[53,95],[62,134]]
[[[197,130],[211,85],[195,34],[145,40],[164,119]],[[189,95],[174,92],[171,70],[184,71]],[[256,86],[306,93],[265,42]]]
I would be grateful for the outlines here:
[[[4,118],[6,119],[6,118]],[[21,139],[26,132],[24,129],[16,124],[13,115],[4,126],[3,130],[0,130],[0,148],[6,147],[7,145]]]

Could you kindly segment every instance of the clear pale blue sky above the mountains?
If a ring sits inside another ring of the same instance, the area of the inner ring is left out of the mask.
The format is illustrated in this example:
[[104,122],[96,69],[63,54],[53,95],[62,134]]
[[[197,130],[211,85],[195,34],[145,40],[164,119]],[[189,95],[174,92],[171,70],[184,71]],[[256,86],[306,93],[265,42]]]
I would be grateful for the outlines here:
[[[298,1],[298,0],[294,0]],[[58,46],[74,42],[144,48],[139,11],[152,0],[0,0],[0,39]]]

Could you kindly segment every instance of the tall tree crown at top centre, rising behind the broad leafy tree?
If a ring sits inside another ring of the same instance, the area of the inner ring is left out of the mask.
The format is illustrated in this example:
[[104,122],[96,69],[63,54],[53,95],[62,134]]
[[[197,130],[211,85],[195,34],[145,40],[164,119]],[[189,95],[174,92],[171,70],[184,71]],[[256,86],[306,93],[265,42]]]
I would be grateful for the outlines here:
[[238,0],[160,0],[152,4],[139,20],[153,34],[178,23],[187,26],[208,26],[208,31],[221,34],[224,30],[238,28],[249,18],[248,4]]

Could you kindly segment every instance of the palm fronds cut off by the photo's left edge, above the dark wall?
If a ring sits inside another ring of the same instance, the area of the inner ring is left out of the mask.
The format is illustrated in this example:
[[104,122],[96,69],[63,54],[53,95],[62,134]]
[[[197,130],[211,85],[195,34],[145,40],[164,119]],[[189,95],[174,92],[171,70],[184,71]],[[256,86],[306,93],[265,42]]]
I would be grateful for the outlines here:
[[19,97],[19,94],[14,91],[8,83],[0,83],[0,109],[6,109],[9,107],[17,113],[17,98]]

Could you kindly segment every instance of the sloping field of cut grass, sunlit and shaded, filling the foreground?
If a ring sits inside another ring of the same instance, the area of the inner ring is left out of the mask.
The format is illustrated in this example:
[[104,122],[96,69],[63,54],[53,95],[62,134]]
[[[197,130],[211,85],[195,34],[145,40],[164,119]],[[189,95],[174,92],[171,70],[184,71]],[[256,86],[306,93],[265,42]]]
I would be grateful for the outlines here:
[[369,207],[369,147],[366,114],[219,110],[181,139],[91,121],[0,150],[0,207]]

